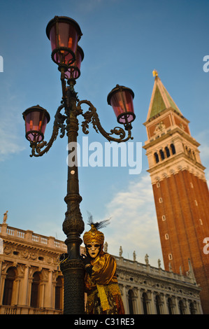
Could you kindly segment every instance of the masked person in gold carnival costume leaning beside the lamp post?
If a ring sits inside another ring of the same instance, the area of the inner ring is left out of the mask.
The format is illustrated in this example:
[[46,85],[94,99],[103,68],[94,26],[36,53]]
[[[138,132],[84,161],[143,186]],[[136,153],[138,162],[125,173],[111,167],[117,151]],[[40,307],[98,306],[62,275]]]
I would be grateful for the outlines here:
[[124,305],[117,283],[116,261],[112,255],[103,251],[104,235],[98,229],[104,228],[109,220],[93,223],[89,216],[91,229],[83,235],[86,255],[81,258],[85,263],[85,292],[87,293],[87,314],[124,314]]

